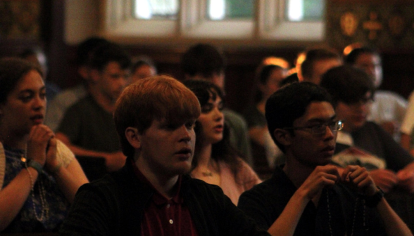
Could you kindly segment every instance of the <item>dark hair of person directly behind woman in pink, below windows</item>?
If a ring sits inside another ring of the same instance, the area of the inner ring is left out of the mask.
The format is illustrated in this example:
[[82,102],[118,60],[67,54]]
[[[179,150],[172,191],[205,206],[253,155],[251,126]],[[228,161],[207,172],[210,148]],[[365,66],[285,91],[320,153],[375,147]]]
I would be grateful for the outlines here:
[[213,77],[225,70],[225,58],[217,48],[210,44],[196,44],[190,47],[181,58],[181,67],[184,74],[194,77],[201,74],[203,77]]

